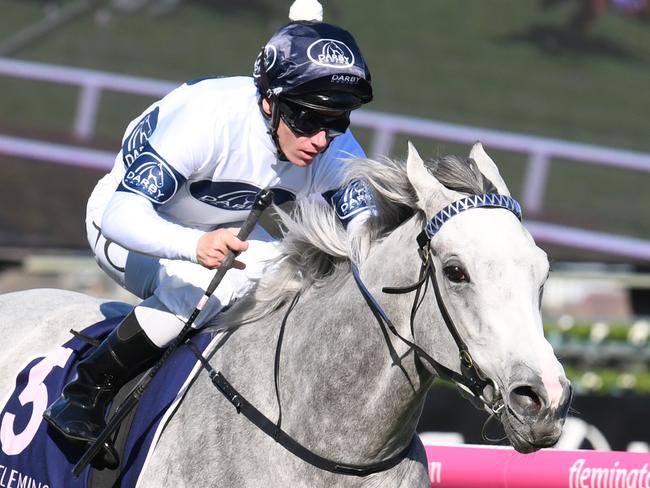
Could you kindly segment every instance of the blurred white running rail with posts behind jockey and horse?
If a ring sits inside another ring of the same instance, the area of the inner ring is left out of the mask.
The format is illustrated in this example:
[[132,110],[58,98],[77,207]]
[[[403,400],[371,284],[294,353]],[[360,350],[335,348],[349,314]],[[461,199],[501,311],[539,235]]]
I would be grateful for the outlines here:
[[[10,58],[0,58],[0,76],[79,87],[76,115],[71,130],[74,136],[82,141],[89,140],[94,135],[103,91],[109,90],[159,98],[179,84],[171,81]],[[373,132],[369,151],[373,156],[390,154],[395,137],[399,134],[462,144],[472,144],[480,140],[490,149],[500,149],[527,155],[527,169],[522,188],[522,204],[529,215],[535,215],[542,210],[552,158],[650,173],[650,154],[641,152],[461,126],[368,110],[355,111],[352,115],[352,123],[354,127],[368,129]],[[112,166],[115,158],[114,153],[105,151],[2,135],[0,135],[0,153],[62,164],[106,169]],[[648,240],[530,221],[528,221],[528,226],[533,235],[537,238],[541,237],[540,240],[545,242],[650,261],[650,241]]]

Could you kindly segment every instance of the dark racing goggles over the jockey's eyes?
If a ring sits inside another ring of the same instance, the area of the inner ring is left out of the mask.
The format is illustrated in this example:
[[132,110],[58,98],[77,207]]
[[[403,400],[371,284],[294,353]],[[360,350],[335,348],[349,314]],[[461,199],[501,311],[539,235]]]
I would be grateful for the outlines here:
[[350,111],[333,111],[331,113],[308,108],[287,100],[277,102],[280,117],[294,134],[311,136],[325,131],[332,139],[343,134],[350,126]]

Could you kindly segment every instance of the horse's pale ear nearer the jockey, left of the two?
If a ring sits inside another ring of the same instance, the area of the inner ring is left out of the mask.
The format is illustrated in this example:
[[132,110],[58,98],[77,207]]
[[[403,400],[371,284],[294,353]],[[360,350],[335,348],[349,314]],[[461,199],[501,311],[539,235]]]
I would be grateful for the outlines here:
[[418,196],[418,206],[427,214],[435,213],[455,200],[457,194],[446,188],[429,172],[410,141],[408,147],[406,173]]

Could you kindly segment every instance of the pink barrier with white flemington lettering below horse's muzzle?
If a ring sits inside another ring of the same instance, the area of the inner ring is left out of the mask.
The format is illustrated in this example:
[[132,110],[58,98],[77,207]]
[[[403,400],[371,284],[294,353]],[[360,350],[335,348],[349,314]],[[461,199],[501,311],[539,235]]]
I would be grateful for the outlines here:
[[432,488],[650,488],[648,453],[425,447]]

